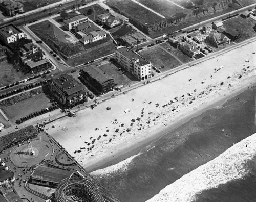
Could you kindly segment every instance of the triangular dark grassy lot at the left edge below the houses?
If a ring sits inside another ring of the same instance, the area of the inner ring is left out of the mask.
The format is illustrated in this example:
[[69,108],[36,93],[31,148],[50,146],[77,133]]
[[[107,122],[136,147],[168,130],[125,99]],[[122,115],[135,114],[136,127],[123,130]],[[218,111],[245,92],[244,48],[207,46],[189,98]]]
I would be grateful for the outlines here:
[[0,87],[32,76],[32,73],[24,74],[22,71],[17,72],[16,68],[7,61],[0,62],[0,72]]

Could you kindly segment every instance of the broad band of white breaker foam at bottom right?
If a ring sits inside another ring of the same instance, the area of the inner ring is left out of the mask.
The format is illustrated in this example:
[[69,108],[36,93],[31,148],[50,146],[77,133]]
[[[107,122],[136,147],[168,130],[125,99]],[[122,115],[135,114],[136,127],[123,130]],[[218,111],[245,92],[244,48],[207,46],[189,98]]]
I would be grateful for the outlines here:
[[242,179],[249,170],[247,162],[256,155],[256,134],[234,144],[215,159],[167,185],[147,202],[193,201],[196,194],[232,180]]

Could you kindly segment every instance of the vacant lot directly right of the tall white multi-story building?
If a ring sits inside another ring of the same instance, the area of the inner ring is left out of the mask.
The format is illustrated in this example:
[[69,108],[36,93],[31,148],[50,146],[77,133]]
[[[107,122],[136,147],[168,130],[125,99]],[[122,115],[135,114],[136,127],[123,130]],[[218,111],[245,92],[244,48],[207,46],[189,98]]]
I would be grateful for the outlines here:
[[164,66],[164,68],[161,69],[162,72],[181,65],[173,56],[157,46],[142,50],[139,55],[152,62],[152,65],[157,68]]

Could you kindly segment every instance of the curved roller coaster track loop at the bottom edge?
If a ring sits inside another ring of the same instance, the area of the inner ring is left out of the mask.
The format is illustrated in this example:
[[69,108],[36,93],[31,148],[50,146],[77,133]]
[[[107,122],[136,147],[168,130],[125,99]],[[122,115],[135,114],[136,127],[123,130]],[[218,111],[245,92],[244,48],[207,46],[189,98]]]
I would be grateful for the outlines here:
[[82,184],[86,187],[86,189],[89,190],[90,192],[90,197],[91,201],[93,202],[104,202],[105,200],[101,196],[97,186],[94,185],[93,181],[88,180],[88,179],[81,179],[81,178],[74,178],[74,179],[69,179],[66,181],[63,181],[62,183],[59,184],[59,186],[56,189],[55,192],[55,197],[56,197],[56,202],[63,202],[66,201],[67,199],[65,198],[65,193],[63,192],[65,188],[69,185],[72,184]]

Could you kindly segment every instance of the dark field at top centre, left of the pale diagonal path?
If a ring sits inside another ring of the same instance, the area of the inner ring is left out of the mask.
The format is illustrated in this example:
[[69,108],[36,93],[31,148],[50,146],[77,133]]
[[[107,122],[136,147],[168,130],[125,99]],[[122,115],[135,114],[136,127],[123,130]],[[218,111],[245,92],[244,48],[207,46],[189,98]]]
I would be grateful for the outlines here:
[[126,17],[134,18],[142,24],[147,23],[148,26],[153,26],[155,23],[165,20],[131,0],[107,0],[106,2],[110,7],[115,6],[118,8]]

